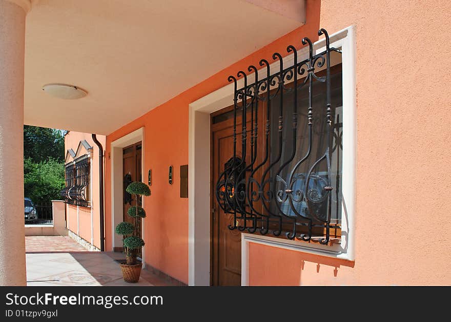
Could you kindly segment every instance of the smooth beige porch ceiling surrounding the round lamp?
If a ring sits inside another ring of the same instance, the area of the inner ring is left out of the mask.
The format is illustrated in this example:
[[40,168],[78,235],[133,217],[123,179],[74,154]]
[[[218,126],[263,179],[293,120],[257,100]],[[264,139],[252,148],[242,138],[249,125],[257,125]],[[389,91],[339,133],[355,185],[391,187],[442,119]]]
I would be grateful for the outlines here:
[[[37,0],[26,25],[25,124],[110,134],[302,25],[304,13],[274,2]],[[41,89],[48,83],[88,96],[53,98]]]

